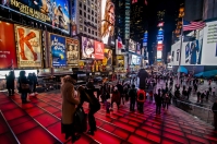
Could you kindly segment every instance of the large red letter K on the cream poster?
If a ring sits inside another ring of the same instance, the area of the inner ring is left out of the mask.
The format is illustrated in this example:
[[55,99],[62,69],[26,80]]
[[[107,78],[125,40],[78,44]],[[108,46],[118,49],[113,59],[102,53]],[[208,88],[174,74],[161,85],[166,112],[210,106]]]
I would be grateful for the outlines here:
[[31,50],[31,52],[33,53],[33,57],[34,57],[34,61],[37,60],[37,53],[33,50],[33,47],[29,43],[31,39],[35,38],[36,37],[36,34],[34,32],[31,32],[28,33],[26,36],[24,36],[25,34],[25,29],[24,28],[17,28],[17,33],[19,33],[19,37],[20,37],[20,40],[19,40],[19,45],[21,47],[21,59],[22,60],[28,60],[26,57],[25,57],[25,51],[24,51],[24,44],[26,44],[26,46],[28,47],[28,49]]

